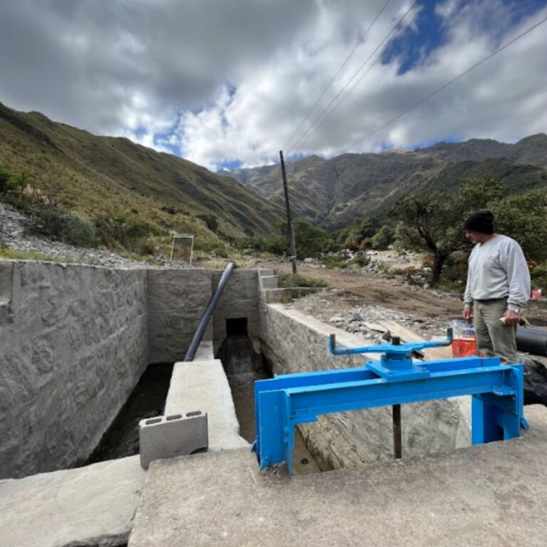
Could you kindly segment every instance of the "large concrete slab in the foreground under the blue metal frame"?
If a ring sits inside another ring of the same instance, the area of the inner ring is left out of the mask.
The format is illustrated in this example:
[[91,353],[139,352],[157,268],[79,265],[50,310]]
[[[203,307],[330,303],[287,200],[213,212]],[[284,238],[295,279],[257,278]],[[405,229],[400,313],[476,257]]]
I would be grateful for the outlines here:
[[289,478],[245,450],[153,462],[129,547],[545,546],[547,411],[521,439]]

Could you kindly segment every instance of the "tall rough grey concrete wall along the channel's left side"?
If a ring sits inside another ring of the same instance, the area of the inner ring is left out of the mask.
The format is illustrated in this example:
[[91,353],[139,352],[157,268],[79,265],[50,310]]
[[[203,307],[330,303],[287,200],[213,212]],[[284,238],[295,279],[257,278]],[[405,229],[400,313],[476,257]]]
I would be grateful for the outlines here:
[[88,457],[148,363],[147,272],[0,261],[0,478]]

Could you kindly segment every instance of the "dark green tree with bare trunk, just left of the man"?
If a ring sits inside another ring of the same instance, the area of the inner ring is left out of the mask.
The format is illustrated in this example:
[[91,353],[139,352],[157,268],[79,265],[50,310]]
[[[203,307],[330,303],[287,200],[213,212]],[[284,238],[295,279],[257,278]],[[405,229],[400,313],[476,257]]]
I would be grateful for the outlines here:
[[450,254],[469,247],[463,236],[464,218],[493,206],[504,194],[504,185],[487,175],[471,179],[457,192],[422,192],[395,204],[390,216],[400,221],[408,244],[425,248],[433,255],[432,286],[439,284]]

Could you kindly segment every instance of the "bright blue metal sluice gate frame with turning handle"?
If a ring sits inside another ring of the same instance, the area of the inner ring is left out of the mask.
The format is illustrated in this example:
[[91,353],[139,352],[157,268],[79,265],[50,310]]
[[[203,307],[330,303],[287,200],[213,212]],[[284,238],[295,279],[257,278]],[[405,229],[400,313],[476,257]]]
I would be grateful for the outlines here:
[[318,415],[385,405],[472,395],[472,444],[519,437],[523,419],[523,365],[499,358],[468,357],[413,363],[413,350],[447,345],[447,340],[329,349],[335,355],[383,353],[364,367],[281,375],[255,382],[256,441],[260,469],[286,462],[293,472],[296,424]]

